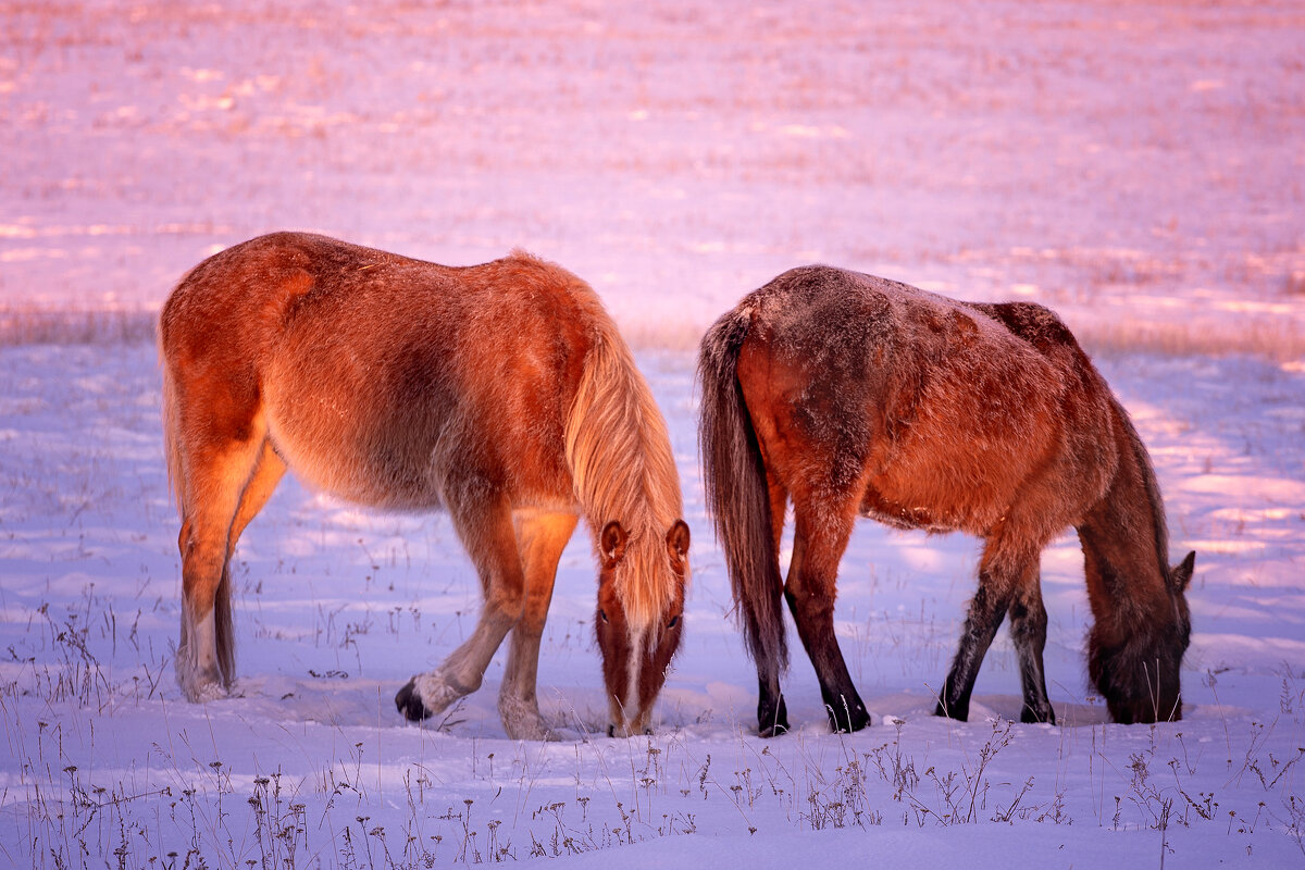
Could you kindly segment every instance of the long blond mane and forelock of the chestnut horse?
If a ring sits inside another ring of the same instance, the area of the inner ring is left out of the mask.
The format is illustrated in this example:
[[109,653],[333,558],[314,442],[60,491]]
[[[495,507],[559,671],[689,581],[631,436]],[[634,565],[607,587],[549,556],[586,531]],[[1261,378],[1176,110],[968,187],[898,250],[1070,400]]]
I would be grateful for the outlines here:
[[629,535],[616,593],[630,627],[641,630],[669,607],[679,582],[664,535],[683,513],[680,476],[666,420],[629,346],[606,316],[591,339],[565,423],[566,464],[594,535],[613,519]]

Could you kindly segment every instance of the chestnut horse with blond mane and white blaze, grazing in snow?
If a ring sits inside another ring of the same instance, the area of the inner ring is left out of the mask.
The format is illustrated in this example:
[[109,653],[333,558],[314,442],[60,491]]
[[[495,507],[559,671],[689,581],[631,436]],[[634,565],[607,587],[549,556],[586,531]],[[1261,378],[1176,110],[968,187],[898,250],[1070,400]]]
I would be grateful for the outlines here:
[[231,687],[231,553],[288,467],[360,505],[449,511],[484,607],[394,700],[410,720],[444,711],[510,631],[499,712],[513,738],[556,737],[535,694],[539,640],[583,514],[608,733],[647,729],[680,644],[689,530],[666,423],[585,282],[519,252],[452,267],[275,233],[181,280],[159,353],[188,699]]

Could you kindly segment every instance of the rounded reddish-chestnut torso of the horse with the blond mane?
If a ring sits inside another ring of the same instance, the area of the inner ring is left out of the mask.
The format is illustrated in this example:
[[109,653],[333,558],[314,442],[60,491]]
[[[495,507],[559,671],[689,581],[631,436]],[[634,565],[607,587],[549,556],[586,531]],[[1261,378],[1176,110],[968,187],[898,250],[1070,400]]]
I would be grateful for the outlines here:
[[458,481],[565,497],[569,391],[602,317],[527,254],[450,267],[277,233],[192,270],[161,333],[166,357],[257,406],[300,476],[402,509]]

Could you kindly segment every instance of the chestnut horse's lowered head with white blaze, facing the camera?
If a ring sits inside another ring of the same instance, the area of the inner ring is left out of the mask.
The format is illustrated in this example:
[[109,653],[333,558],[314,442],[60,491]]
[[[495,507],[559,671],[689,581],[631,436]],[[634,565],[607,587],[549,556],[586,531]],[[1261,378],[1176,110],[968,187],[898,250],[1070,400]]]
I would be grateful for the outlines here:
[[[689,527],[677,519],[664,537],[641,537],[647,540],[632,540],[616,522],[599,535],[602,573],[594,626],[603,652],[609,737],[650,733],[652,703],[684,634]],[[641,612],[649,601],[659,604]]]

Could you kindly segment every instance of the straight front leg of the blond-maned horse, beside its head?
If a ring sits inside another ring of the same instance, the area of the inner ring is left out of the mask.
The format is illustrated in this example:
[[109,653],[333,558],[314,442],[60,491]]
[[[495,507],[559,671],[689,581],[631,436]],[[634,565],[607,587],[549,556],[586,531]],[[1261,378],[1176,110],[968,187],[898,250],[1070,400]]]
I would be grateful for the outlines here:
[[521,622],[512,630],[508,669],[499,690],[499,716],[513,740],[559,740],[539,716],[535,681],[539,642],[557,579],[557,561],[576,531],[574,514],[525,514],[517,518],[517,540],[526,577]]

